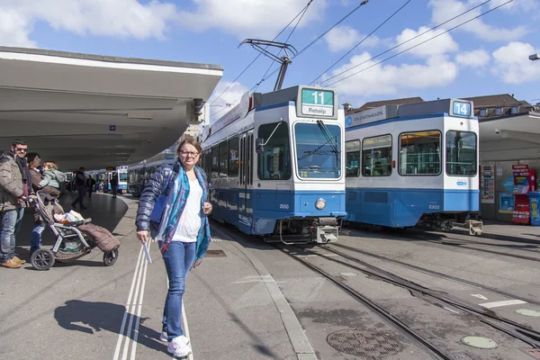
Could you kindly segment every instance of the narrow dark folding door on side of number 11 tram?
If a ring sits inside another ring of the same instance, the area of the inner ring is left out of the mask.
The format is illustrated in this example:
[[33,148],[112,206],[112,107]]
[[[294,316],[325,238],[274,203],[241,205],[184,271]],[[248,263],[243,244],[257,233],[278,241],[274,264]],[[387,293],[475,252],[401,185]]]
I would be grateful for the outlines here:
[[238,229],[250,232],[253,221],[253,200],[249,189],[253,184],[253,130],[240,135],[240,168],[238,175]]

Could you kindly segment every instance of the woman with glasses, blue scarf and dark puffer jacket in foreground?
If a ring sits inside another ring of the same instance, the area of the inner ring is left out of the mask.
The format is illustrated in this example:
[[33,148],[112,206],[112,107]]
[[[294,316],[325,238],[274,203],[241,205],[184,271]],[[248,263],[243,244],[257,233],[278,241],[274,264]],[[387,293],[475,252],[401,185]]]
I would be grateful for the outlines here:
[[[206,175],[196,166],[201,152],[194,139],[182,141],[176,149],[179,161],[172,168],[160,166],[150,177],[137,211],[137,238],[142,243],[149,237],[156,238],[165,263],[169,288],[160,339],[168,342],[167,351],[175,357],[192,352],[182,329],[182,296],[187,273],[201,264],[210,244],[207,215],[211,213],[211,204],[204,201],[208,193]],[[162,194],[166,195],[166,204],[157,223],[150,216]]]

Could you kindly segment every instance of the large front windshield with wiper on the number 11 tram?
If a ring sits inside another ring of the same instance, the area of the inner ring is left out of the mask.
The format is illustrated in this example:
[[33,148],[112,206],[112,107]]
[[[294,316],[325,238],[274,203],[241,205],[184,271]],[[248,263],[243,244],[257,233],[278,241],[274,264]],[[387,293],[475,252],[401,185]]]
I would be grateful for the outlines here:
[[298,175],[337,179],[341,175],[341,130],[338,125],[294,125]]

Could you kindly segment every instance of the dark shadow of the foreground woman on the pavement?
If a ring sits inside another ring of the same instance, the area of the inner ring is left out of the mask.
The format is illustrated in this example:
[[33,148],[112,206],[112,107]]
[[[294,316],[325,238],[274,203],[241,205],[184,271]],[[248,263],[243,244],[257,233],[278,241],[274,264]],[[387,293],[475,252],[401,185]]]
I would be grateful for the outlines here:
[[[119,324],[123,320],[125,310],[124,306],[111,302],[69,300],[54,311],[54,318],[58,321],[60,327],[67,330],[80,331],[88,335],[94,335],[102,330],[120,334]],[[159,341],[160,334],[156,330],[143,325],[146,319],[140,319],[135,315],[133,317],[133,324],[139,321],[137,343],[168,354],[165,343]],[[125,329],[127,328],[128,325],[126,324]],[[124,333],[126,332],[125,329]],[[131,332],[130,339],[135,341],[133,334],[135,332]]]

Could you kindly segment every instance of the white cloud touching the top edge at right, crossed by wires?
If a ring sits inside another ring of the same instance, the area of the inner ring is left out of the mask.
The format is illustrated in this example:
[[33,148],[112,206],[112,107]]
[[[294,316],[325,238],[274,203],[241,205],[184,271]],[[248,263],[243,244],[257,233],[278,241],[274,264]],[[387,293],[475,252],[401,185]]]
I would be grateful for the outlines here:
[[[527,1],[527,0],[526,0]],[[473,1],[471,3],[477,3]],[[444,23],[447,20],[464,13],[473,7],[471,3],[463,3],[458,0],[430,0],[429,4],[433,8],[431,20],[433,23]],[[511,3],[510,3],[511,4]],[[503,6],[502,8],[504,8]],[[459,23],[464,23],[467,20],[473,19],[475,16],[482,14],[482,7],[479,7],[463,16],[458,17],[450,23],[444,25],[445,29],[450,29]],[[460,28],[463,31],[472,32],[479,39],[488,41],[511,41],[517,40],[527,34],[525,26],[517,26],[513,29],[499,28],[497,26],[484,23],[482,18],[473,20],[471,23],[466,23]]]

